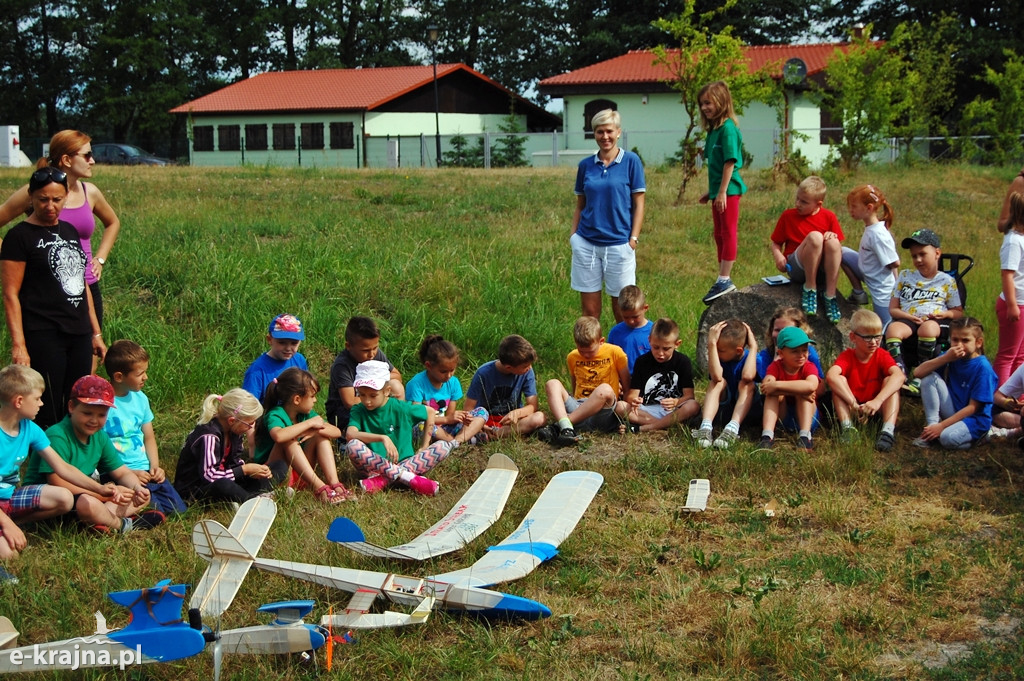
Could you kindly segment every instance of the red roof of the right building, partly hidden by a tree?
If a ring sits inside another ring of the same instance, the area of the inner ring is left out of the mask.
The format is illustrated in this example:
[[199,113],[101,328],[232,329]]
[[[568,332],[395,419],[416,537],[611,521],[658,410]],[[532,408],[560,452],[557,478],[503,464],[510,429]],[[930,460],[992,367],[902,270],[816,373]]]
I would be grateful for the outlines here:
[[[751,69],[758,69],[775,62],[773,72],[781,75],[781,65],[791,57],[800,57],[807,65],[807,75],[822,71],[837,49],[846,50],[849,43],[820,43],[814,45],[755,45],[746,46]],[[670,52],[673,50],[670,50]],[[668,77],[664,66],[654,65],[654,54],[650,50],[632,50],[622,56],[577,69],[560,76],[552,76],[541,81],[542,88],[559,86],[662,83]]]

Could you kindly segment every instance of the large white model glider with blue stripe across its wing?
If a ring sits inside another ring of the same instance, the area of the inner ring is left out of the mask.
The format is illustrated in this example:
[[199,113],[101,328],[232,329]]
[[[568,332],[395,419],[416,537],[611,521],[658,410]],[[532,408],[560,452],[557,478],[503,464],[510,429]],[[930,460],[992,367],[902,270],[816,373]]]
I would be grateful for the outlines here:
[[[222,526],[210,528],[220,537],[218,542],[197,543],[196,549],[200,556],[210,561],[227,555],[244,555],[259,569],[351,592],[353,596],[346,611],[322,619],[321,624],[325,626],[359,629],[420,624],[434,607],[493,618],[537,620],[550,616],[551,610],[528,598],[481,587],[524,577],[553,557],[558,545],[583,517],[603,480],[600,474],[589,471],[559,473],[548,483],[519,527],[505,541],[488,549],[472,567],[433,578],[259,558],[247,551],[236,533]],[[378,597],[412,607],[413,611],[370,613]]]

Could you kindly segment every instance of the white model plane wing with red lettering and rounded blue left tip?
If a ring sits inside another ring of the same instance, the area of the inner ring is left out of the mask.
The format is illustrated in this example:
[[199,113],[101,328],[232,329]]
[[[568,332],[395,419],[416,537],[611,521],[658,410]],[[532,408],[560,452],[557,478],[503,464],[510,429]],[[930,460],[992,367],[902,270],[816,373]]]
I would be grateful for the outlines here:
[[504,454],[492,455],[487,468],[476,478],[452,510],[407,544],[383,548],[366,541],[359,526],[348,518],[335,518],[328,529],[332,542],[366,556],[398,560],[426,560],[458,551],[482,535],[501,517],[519,469]]

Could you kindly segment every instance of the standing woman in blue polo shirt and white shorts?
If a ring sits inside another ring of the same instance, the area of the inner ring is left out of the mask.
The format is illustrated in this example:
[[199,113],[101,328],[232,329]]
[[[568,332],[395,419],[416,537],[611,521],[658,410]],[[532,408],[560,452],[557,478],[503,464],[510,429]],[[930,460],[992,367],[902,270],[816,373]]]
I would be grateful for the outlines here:
[[601,288],[611,298],[615,322],[623,321],[618,292],[636,284],[636,248],[643,227],[646,182],[643,163],[620,148],[618,112],[598,112],[591,120],[597,154],[580,162],[577,207],[572,213],[572,290],[583,313],[601,318]]

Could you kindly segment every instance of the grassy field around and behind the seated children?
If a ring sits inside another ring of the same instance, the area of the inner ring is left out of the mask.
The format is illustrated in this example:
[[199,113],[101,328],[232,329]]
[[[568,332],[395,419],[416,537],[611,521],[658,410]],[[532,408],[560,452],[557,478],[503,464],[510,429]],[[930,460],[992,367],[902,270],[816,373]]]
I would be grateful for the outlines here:
[[[848,241],[862,225],[845,195],[871,182],[896,211],[899,240],[918,227],[971,254],[969,312],[989,331],[999,290],[994,222],[1016,168],[866,168],[829,175],[826,206]],[[0,171],[0,190],[26,171]],[[306,325],[302,350],[327,385],[353,314],[383,331],[382,347],[407,377],[417,348],[441,333],[462,350],[460,377],[495,357],[510,333],[540,353],[539,380],[562,376],[579,296],[569,290],[573,171],[113,169],[96,171],[122,219],[104,270],[108,342],[131,338],[152,357],[150,395],[165,468],[203,397],[241,384],[282,311]],[[772,270],[768,235],[795,187],[746,176],[737,285]],[[650,314],[672,316],[693,355],[700,296],[715,273],[711,216],[692,201],[674,208],[674,173],[649,170],[639,284]],[[904,258],[904,266],[909,266]],[[841,291],[849,291],[841,284]],[[610,310],[605,309],[605,324]],[[607,328],[607,327],[606,327]],[[760,330],[758,330],[760,333]],[[6,346],[2,348],[6,352]],[[698,386],[698,394],[702,384]],[[323,397],[322,393],[322,397]],[[327,508],[308,494],[282,500],[262,555],[428,574],[468,565],[505,537],[551,475],[586,468],[605,484],[561,555],[504,590],[548,604],[550,620],[486,623],[437,613],[419,628],[365,632],[336,648],[331,678],[393,679],[818,679],[1017,678],[1024,605],[1020,493],[1024,466],[1012,444],[963,453],[912,448],[920,405],[905,406],[896,450],[869,442],[813,452],[701,451],[688,433],[598,436],[579,451],[536,440],[460,450],[437,471],[441,494],[389,493]],[[324,539],[336,513],[384,545],[416,536],[463,494],[494,452],[521,469],[502,519],[460,554],[424,566],[364,559]],[[354,483],[345,464],[345,481]],[[708,511],[680,512],[691,477],[711,479]],[[769,518],[765,503],[779,511]],[[170,578],[195,583],[204,564],[188,536],[190,510],[148,534],[96,538],[73,524],[36,527],[2,586],[0,614],[33,643],[93,631],[98,608],[125,624],[104,594]],[[253,572],[224,627],[254,624],[260,603],[315,598],[315,614],[346,594]],[[949,665],[947,653],[968,650]],[[323,654],[321,674],[324,675]],[[927,664],[927,665],[926,665]],[[209,655],[135,670],[128,678],[207,678]],[[40,678],[125,678],[116,672]],[[224,678],[311,679],[309,664],[228,657]]]

